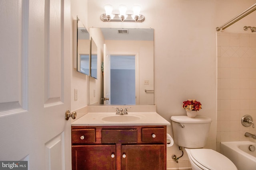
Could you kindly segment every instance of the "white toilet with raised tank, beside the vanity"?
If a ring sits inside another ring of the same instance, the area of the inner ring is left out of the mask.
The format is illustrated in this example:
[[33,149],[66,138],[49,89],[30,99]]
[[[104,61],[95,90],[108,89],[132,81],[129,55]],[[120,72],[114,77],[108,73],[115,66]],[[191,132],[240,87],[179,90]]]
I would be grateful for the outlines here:
[[192,170],[237,170],[231,160],[206,145],[212,119],[206,116],[172,116],[174,143],[185,147]]

